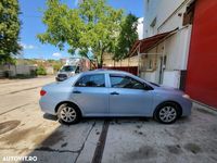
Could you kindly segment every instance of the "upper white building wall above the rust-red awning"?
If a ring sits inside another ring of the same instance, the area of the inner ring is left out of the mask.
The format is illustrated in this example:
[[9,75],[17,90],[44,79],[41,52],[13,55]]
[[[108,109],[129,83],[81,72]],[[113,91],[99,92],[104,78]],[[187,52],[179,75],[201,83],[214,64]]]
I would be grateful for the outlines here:
[[[192,0],[144,0],[144,37],[182,28],[182,16]],[[181,14],[181,15],[179,15]],[[156,25],[151,27],[156,18]]]

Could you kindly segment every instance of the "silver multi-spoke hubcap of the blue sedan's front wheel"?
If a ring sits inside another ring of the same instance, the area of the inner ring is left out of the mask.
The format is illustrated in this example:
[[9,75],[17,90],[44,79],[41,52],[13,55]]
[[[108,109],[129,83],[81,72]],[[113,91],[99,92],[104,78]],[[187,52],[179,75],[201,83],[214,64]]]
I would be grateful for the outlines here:
[[176,116],[177,116],[177,112],[176,112],[176,109],[173,106],[164,106],[159,111],[159,118],[163,122],[171,122],[176,118]]

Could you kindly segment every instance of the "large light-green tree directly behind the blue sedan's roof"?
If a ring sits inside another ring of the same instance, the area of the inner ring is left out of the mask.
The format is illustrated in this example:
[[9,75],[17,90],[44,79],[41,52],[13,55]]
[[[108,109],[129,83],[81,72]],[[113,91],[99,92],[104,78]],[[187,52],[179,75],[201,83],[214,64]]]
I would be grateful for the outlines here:
[[43,12],[47,30],[38,35],[42,43],[51,43],[61,50],[67,45],[68,52],[86,58],[91,50],[98,66],[103,65],[104,53],[112,52],[120,32],[123,10],[115,10],[105,0],[85,0],[78,9],[69,9],[60,0],[48,0]]

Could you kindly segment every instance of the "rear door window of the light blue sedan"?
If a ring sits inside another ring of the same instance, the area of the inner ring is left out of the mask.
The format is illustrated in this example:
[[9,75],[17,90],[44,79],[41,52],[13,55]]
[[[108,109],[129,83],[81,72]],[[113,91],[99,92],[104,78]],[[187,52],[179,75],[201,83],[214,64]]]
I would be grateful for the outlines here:
[[104,74],[82,76],[75,84],[76,87],[105,87]]

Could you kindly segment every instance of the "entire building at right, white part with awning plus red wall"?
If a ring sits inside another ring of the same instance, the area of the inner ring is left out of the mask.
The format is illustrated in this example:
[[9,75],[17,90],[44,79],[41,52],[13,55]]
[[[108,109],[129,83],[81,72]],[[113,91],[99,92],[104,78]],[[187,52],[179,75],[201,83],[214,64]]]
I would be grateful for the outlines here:
[[217,108],[216,10],[216,0],[144,0],[139,75]]

